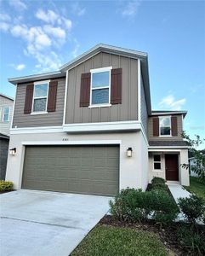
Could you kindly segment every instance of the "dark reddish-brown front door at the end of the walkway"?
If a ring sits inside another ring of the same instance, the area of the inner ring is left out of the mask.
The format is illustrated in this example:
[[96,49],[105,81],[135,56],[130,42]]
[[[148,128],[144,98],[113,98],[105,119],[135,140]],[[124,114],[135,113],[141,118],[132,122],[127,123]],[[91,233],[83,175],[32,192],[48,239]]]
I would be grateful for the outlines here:
[[165,154],[166,180],[179,181],[178,154]]

